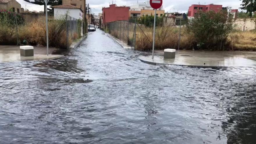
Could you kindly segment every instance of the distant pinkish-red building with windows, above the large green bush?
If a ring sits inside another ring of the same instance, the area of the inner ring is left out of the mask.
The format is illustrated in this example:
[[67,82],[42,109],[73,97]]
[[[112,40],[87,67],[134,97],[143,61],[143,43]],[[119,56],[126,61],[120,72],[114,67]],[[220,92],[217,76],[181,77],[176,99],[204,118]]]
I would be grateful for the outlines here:
[[194,17],[194,15],[197,13],[198,10],[202,10],[204,12],[213,10],[215,12],[218,12],[218,11],[222,10],[222,5],[214,5],[214,4],[196,5],[196,4],[193,4],[189,7],[188,17]]

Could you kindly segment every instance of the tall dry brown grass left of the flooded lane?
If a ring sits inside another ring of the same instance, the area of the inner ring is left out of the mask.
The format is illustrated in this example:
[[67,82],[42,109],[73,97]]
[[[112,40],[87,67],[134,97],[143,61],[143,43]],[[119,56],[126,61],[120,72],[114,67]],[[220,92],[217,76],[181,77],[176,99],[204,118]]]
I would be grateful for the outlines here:
[[[34,21],[18,26],[19,42],[22,44],[24,40],[29,45],[46,46],[46,23],[44,21]],[[17,37],[15,27],[12,26],[0,26],[0,44],[1,45],[16,45]],[[66,48],[66,24],[61,20],[49,20],[48,23],[49,32],[49,46]],[[77,38],[78,35],[74,35]],[[72,40],[69,38],[69,44]]]

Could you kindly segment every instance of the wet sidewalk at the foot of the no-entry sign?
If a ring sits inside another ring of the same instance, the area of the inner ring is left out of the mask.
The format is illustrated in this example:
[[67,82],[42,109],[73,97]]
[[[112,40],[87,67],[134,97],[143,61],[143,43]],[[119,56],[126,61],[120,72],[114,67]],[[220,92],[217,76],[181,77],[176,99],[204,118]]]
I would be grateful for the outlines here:
[[176,50],[175,59],[164,59],[163,50],[156,50],[154,59],[152,52],[143,52],[139,57],[144,63],[157,65],[186,65],[204,67],[254,67],[256,52],[250,51],[192,51]]

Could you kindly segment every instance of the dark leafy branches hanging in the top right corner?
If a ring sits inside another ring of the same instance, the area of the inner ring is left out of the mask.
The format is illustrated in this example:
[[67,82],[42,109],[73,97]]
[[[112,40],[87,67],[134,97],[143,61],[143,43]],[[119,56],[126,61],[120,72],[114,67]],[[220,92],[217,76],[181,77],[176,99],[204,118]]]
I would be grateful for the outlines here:
[[240,0],[242,1],[241,9],[246,10],[246,13],[249,14],[250,17],[253,16],[253,13],[256,11],[256,0]]

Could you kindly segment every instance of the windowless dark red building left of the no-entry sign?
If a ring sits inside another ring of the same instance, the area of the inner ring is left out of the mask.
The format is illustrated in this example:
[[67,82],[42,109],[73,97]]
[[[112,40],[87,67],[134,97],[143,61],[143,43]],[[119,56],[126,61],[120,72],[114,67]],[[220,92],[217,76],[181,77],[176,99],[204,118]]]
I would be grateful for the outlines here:
[[129,20],[129,9],[126,6],[115,6],[115,4],[109,5],[109,8],[102,8],[103,24],[109,22],[115,22],[117,20]]

